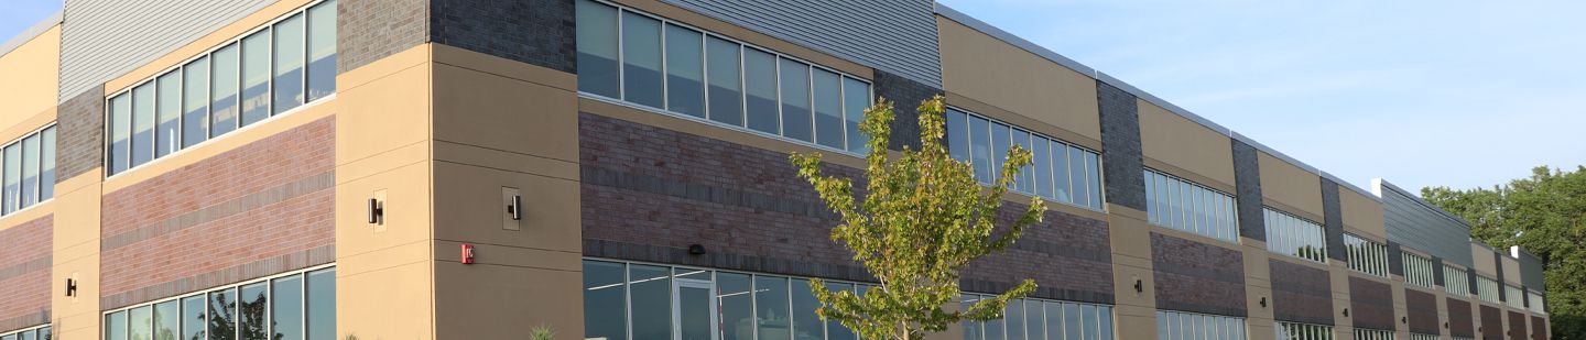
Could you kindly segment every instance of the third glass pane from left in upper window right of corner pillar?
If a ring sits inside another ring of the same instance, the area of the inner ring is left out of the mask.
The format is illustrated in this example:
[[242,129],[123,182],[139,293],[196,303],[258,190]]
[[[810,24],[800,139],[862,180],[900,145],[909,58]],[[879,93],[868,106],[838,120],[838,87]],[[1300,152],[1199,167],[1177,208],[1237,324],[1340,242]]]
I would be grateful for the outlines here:
[[704,35],[666,25],[666,109],[704,119]]

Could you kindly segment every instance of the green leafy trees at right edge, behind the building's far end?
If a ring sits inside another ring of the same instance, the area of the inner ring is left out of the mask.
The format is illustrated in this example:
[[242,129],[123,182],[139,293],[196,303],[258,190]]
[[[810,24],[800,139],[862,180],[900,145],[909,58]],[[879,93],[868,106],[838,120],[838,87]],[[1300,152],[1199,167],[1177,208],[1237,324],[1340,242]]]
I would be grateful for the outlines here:
[[1546,269],[1553,338],[1586,338],[1586,166],[1538,166],[1508,185],[1423,188],[1421,196],[1470,221],[1470,237],[1537,255]]

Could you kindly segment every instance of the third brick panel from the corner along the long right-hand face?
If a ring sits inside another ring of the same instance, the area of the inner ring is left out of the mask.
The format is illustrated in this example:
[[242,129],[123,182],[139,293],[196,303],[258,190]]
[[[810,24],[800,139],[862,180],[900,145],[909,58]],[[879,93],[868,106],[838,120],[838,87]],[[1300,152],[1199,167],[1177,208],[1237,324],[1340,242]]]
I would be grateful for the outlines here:
[[1332,280],[1327,270],[1267,259],[1272,269],[1272,318],[1308,324],[1334,324]]

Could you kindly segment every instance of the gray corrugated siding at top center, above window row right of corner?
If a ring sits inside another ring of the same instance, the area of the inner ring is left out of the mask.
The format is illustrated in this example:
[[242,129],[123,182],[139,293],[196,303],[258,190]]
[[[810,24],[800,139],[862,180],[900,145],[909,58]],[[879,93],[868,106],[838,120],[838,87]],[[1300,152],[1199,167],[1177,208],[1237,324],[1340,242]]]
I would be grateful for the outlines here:
[[666,0],[815,51],[942,87],[933,0]]

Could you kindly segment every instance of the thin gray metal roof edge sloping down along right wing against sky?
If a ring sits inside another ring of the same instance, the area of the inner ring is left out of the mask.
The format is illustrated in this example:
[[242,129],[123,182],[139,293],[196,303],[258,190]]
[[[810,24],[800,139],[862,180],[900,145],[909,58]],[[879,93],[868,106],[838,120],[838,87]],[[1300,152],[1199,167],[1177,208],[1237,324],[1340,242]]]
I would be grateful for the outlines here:
[[1047,60],[1050,60],[1053,63],[1058,63],[1058,65],[1061,65],[1061,66],[1064,66],[1067,70],[1072,70],[1072,71],[1075,71],[1078,74],[1085,74],[1085,76],[1088,76],[1091,79],[1105,82],[1107,85],[1118,87],[1120,90],[1129,92],[1136,98],[1145,100],[1147,103],[1151,103],[1151,104],[1156,104],[1156,106],[1159,106],[1163,109],[1167,109],[1169,112],[1174,112],[1178,117],[1188,119],[1190,122],[1196,122],[1201,127],[1210,128],[1212,131],[1221,133],[1221,134],[1224,134],[1228,138],[1232,138],[1232,139],[1237,139],[1240,142],[1250,144],[1251,147],[1256,147],[1256,150],[1266,152],[1267,155],[1272,155],[1272,157],[1277,157],[1278,160],[1288,161],[1289,164],[1294,164],[1294,166],[1297,166],[1301,169],[1305,169],[1307,172],[1316,174],[1318,177],[1323,177],[1323,179],[1327,179],[1327,180],[1332,180],[1332,182],[1337,182],[1339,185],[1342,185],[1345,188],[1354,190],[1356,193],[1361,193],[1362,196],[1367,196],[1367,198],[1372,198],[1372,199],[1377,199],[1378,202],[1381,202],[1381,198],[1372,195],[1372,191],[1367,191],[1367,190],[1364,190],[1361,187],[1356,187],[1354,183],[1340,180],[1339,177],[1334,177],[1332,174],[1323,172],[1321,169],[1316,169],[1315,166],[1305,164],[1304,161],[1299,161],[1299,160],[1296,160],[1296,158],[1293,158],[1289,155],[1285,155],[1285,153],[1278,152],[1277,149],[1267,147],[1266,144],[1256,142],[1255,139],[1251,139],[1248,136],[1239,134],[1232,128],[1218,125],[1216,122],[1212,122],[1210,119],[1201,117],[1199,114],[1190,112],[1185,108],[1178,108],[1174,103],[1167,103],[1167,100],[1163,100],[1163,98],[1159,98],[1156,95],[1151,95],[1150,92],[1140,90],[1139,87],[1134,87],[1129,82],[1124,82],[1124,81],[1121,81],[1118,77],[1113,77],[1113,76],[1110,76],[1107,73],[1098,71],[1096,68],[1086,66],[1085,63],[1075,62],[1074,59],[1064,57],[1063,54],[1053,52],[1052,49],[1040,47],[1039,44],[1031,43],[1029,40],[1020,38],[1020,36],[1017,36],[1013,33],[1009,33],[1009,32],[1006,32],[1002,28],[998,28],[998,27],[994,27],[991,24],[986,24],[986,22],[983,22],[980,19],[975,19],[975,17],[972,17],[969,14],[964,14],[964,13],[961,13],[958,9],[953,9],[952,6],[942,5],[940,2],[936,3],[936,14],[939,14],[942,17],[947,17],[948,21],[955,21],[958,24],[967,25],[969,28],[979,30],[980,33],[990,35],[991,38],[998,38],[1002,43],[1012,44],[1013,47],[1020,47],[1020,49],[1023,49],[1026,52],[1040,55],[1040,57],[1044,57],[1044,59],[1047,59]]

